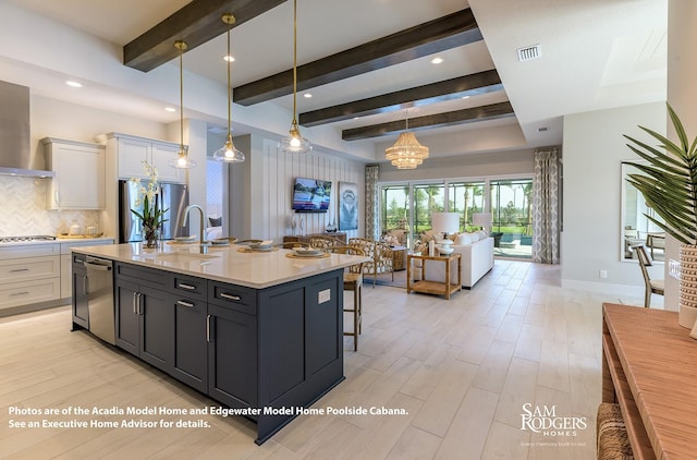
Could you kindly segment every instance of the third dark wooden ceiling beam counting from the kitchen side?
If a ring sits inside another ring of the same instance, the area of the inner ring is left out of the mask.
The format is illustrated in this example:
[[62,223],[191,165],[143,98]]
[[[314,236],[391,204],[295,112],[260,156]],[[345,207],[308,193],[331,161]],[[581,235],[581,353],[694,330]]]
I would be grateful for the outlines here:
[[303,126],[317,126],[350,120],[355,117],[387,113],[501,89],[503,89],[503,84],[501,83],[499,73],[496,70],[488,70],[472,75],[458,76],[429,85],[304,112],[299,114],[299,123]]

